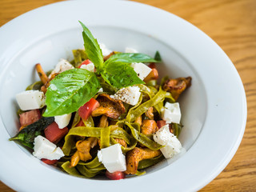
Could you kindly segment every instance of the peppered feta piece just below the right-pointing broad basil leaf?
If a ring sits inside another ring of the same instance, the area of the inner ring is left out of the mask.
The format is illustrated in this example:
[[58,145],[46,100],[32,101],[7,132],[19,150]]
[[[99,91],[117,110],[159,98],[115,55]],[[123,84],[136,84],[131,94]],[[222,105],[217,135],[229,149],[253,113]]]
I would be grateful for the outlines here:
[[117,93],[111,95],[110,97],[135,106],[138,103],[140,96],[141,92],[139,91],[138,86],[128,86],[118,90]]

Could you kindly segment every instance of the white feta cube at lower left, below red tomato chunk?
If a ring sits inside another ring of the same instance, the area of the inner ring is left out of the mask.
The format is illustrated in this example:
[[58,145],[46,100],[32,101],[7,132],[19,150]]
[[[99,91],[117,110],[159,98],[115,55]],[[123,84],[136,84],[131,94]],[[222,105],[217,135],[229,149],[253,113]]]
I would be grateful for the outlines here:
[[41,135],[34,138],[33,155],[39,159],[46,158],[49,160],[60,159],[64,156],[61,148],[57,147],[54,143]]

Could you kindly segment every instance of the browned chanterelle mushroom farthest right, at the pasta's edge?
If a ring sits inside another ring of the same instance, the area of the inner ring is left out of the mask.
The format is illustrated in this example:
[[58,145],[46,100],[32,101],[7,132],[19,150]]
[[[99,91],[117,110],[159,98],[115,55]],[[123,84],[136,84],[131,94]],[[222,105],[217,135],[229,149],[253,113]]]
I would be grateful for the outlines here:
[[175,100],[182,94],[187,87],[191,86],[191,77],[187,78],[170,78],[162,86],[163,90],[169,91]]

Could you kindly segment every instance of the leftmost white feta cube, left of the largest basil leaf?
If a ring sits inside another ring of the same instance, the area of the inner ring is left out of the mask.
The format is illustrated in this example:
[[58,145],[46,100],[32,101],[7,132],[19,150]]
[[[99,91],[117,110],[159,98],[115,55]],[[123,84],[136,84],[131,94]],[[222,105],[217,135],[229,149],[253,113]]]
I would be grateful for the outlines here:
[[16,94],[16,100],[21,110],[36,110],[46,105],[45,94],[39,90],[26,90]]

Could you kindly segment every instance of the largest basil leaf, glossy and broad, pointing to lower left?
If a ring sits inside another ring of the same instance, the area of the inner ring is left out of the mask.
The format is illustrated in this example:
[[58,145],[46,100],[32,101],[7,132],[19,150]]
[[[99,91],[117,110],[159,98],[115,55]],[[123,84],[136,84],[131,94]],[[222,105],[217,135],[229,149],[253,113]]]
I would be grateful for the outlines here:
[[100,84],[94,73],[82,69],[66,70],[50,82],[43,116],[52,117],[77,111],[99,89]]

